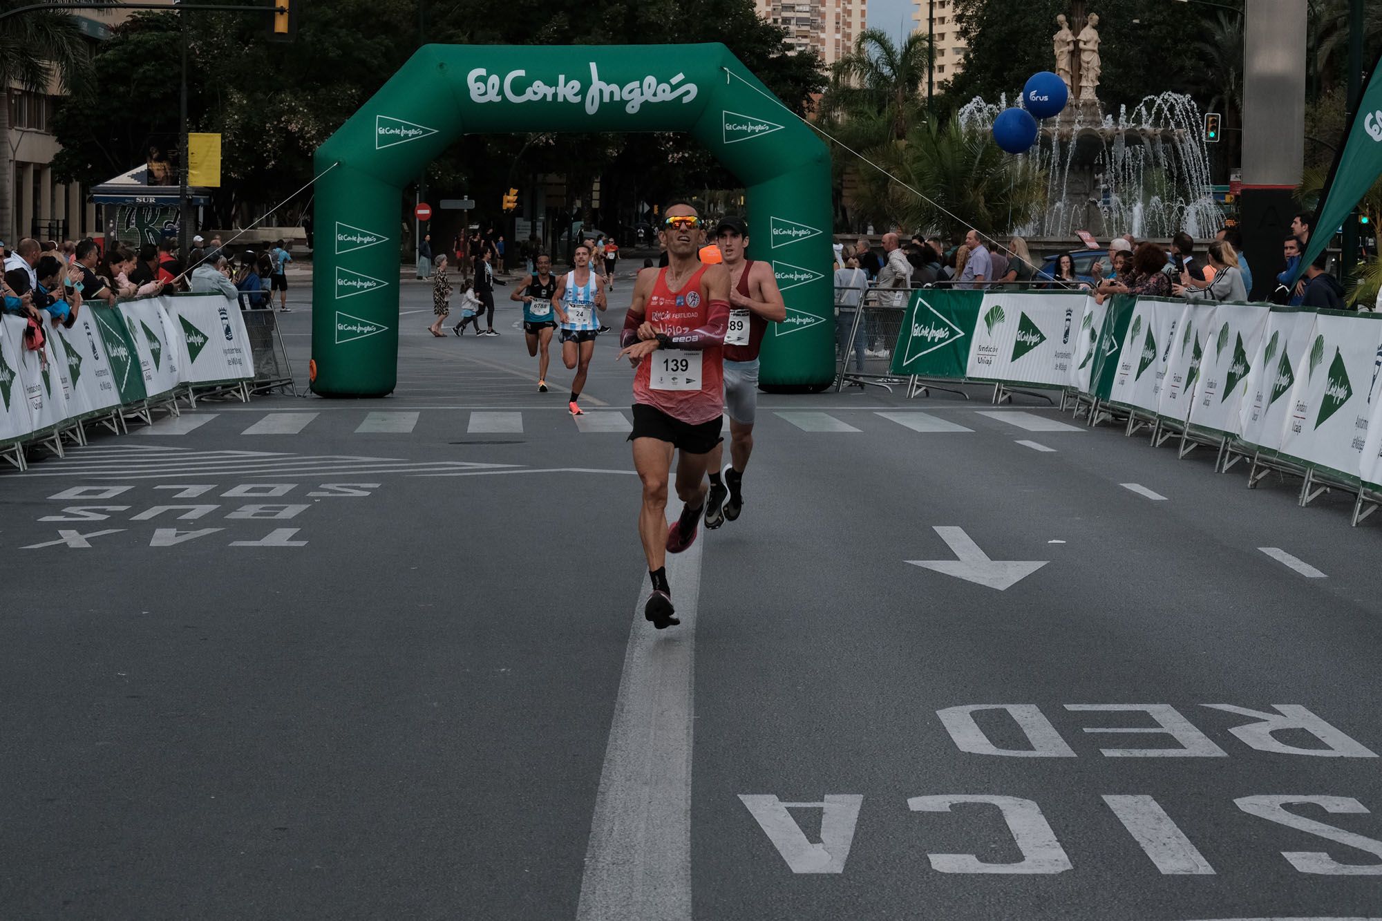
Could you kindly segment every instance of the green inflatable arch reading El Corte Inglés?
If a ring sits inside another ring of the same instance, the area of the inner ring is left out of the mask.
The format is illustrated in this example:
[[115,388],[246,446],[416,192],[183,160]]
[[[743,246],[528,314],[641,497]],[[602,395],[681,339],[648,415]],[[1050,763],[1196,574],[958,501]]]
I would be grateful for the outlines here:
[[750,259],[788,307],[760,380],[835,376],[825,145],[723,44],[424,46],[316,151],[312,390],[377,397],[398,365],[399,199],[463,134],[687,131],[745,185]]

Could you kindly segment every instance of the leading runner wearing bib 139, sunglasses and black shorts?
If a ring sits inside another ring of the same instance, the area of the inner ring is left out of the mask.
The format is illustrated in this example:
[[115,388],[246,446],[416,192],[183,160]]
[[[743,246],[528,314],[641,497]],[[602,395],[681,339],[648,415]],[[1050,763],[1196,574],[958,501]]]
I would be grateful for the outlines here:
[[[705,266],[697,249],[705,239],[701,217],[683,202],[662,212],[659,232],[666,268],[644,268],[619,343],[637,368],[633,379],[633,466],[643,480],[638,537],[648,560],[652,593],[643,614],[655,628],[681,621],[672,604],[666,555],[695,541],[705,508],[705,472],[720,444],[724,412],[723,343],[730,321],[730,274]],[[681,516],[668,525],[668,480],[673,451]]]

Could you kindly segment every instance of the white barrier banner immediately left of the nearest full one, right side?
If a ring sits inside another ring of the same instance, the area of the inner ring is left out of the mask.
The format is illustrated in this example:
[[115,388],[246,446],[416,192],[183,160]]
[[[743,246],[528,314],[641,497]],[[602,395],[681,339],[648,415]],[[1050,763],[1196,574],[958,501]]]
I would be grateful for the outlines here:
[[1291,415],[1295,369],[1305,357],[1314,328],[1314,313],[1299,307],[1273,307],[1248,368],[1238,431],[1263,451],[1278,451]]

